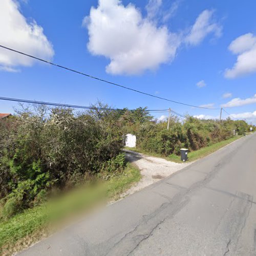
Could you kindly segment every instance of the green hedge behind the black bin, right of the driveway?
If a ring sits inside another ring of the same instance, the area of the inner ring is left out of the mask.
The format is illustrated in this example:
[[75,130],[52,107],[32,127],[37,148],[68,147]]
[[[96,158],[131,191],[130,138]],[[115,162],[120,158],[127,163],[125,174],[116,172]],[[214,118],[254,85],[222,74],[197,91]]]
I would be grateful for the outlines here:
[[133,131],[137,135],[137,147],[148,153],[174,156],[180,154],[182,147],[196,151],[229,139],[234,130],[238,135],[244,135],[245,131],[249,131],[250,125],[245,121],[230,119],[223,120],[220,124],[216,120],[199,120],[188,116],[183,122],[172,117],[169,127],[167,130],[166,122],[143,123]]

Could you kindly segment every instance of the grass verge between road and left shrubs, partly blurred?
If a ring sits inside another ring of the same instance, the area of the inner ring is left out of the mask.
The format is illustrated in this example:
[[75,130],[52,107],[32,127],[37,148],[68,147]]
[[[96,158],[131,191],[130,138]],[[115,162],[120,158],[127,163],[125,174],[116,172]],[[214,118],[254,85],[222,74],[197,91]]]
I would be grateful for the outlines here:
[[53,222],[60,223],[61,220],[84,212],[103,200],[117,200],[141,178],[139,169],[131,163],[127,163],[124,173],[121,177],[114,177],[94,186],[69,191],[61,198],[27,209],[8,221],[1,221],[0,254],[11,255],[46,237]]

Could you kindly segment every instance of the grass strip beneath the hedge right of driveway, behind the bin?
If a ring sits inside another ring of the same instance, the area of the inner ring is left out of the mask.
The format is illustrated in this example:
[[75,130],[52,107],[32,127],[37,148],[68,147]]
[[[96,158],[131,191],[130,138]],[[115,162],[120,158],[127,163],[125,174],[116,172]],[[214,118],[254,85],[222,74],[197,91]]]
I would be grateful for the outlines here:
[[[223,140],[221,142],[217,142],[217,143],[212,144],[210,146],[202,147],[202,148],[200,148],[200,150],[189,152],[188,153],[188,160],[189,161],[195,161],[197,159],[205,157],[205,156],[219,150],[221,147],[226,146],[227,144],[229,144],[229,143],[231,143],[231,142],[233,142],[237,139],[240,139],[241,137],[242,136],[235,136],[235,137],[232,137],[230,139]],[[139,148],[125,147],[125,149],[126,150],[131,150],[131,151],[134,151],[134,152],[138,152],[138,153],[142,153],[142,154],[145,154],[145,155],[150,155],[150,156],[154,156],[154,157],[161,157],[161,158],[164,158],[166,160],[176,162],[176,163],[182,163],[182,161],[180,160],[180,156],[177,156],[175,154],[169,155],[167,157],[162,157],[159,154],[148,153],[148,152],[145,152],[143,150],[140,150]]]

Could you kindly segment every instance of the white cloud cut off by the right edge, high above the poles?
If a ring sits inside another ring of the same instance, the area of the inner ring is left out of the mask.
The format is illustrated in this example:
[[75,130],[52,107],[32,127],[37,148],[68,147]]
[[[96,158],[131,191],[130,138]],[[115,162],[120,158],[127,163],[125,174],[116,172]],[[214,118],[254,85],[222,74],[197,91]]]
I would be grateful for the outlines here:
[[231,69],[226,69],[226,78],[236,78],[256,72],[256,36],[252,33],[239,36],[231,42],[228,49],[238,55]]

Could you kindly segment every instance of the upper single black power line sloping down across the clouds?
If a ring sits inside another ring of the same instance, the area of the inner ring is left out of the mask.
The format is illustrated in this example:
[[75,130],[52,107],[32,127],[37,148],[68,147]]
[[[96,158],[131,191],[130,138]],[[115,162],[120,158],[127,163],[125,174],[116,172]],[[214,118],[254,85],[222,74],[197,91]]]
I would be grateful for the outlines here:
[[96,79],[96,80],[99,80],[99,81],[102,81],[102,82],[106,82],[106,83],[109,83],[109,84],[113,84],[114,86],[118,86],[118,87],[121,87],[121,88],[126,89],[126,90],[134,91],[134,92],[137,92],[137,93],[141,93],[141,94],[144,94],[144,95],[147,95],[147,96],[151,96],[151,97],[154,97],[154,98],[166,100],[166,101],[169,101],[169,102],[174,102],[174,103],[177,103],[177,104],[182,104],[182,105],[186,105],[186,106],[192,106],[193,108],[207,109],[207,110],[218,110],[218,109],[212,109],[212,108],[205,108],[205,107],[203,107],[203,106],[190,105],[190,104],[186,104],[186,103],[183,103],[183,102],[179,102],[179,101],[175,101],[175,100],[170,100],[170,99],[162,98],[162,97],[159,97],[159,96],[150,94],[150,93],[141,92],[141,91],[138,91],[138,90],[129,88],[129,87],[121,86],[121,84],[118,84],[118,83],[110,82],[110,81],[108,81],[108,80],[104,80],[104,79],[101,79],[101,78],[98,78],[98,77],[95,77],[95,76],[92,76],[92,75],[89,75],[89,74],[86,74],[86,73],[83,73],[83,72],[80,72],[80,71],[76,71],[76,70],[74,70],[74,69],[70,69],[70,68],[67,68],[67,67],[58,65],[58,64],[56,64],[56,63],[50,62],[50,61],[45,60],[45,59],[41,59],[41,58],[35,57],[35,56],[33,56],[33,55],[29,55],[29,54],[27,54],[27,53],[24,53],[24,52],[20,52],[20,51],[11,49],[11,48],[6,47],[6,46],[3,46],[3,45],[0,45],[0,47],[1,47],[1,48],[4,48],[4,49],[6,49],[6,50],[9,50],[9,51],[15,52],[15,53],[19,53],[19,54],[25,55],[25,56],[30,57],[30,58],[33,58],[33,59],[40,60],[40,61],[42,61],[42,62],[48,63],[48,64],[50,64],[50,65],[53,65],[53,66],[58,67],[58,68],[61,68],[61,69],[69,70],[69,71],[71,71],[71,72],[74,72],[74,73],[77,73],[77,74],[80,74],[80,75],[83,75],[83,76],[87,76],[87,77],[90,77],[90,78],[93,78],[93,79]]

